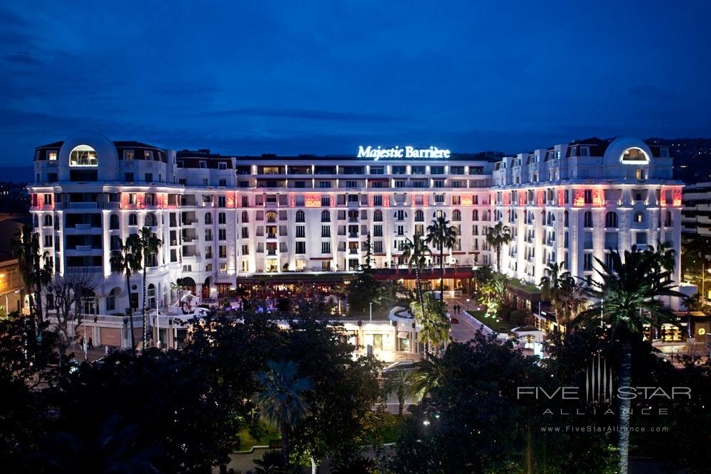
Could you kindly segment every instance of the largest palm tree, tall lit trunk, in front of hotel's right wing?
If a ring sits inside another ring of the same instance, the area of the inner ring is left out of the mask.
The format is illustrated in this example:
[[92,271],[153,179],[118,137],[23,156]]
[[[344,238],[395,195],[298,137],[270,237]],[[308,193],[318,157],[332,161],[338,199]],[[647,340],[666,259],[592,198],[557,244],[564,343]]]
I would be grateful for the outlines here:
[[[602,317],[611,325],[621,348],[617,374],[619,387],[631,386],[633,338],[639,338],[643,325],[658,325],[673,318],[669,308],[657,298],[660,296],[683,296],[674,291],[671,272],[661,270],[660,255],[656,252],[640,252],[636,246],[624,252],[624,262],[619,252],[611,252],[610,265],[595,259],[600,281],[592,281],[587,294],[594,303],[587,311],[573,320],[574,324],[588,321],[597,323]],[[614,336],[613,336],[614,337]],[[629,409],[630,400],[619,400],[619,473],[627,473],[629,462]]]

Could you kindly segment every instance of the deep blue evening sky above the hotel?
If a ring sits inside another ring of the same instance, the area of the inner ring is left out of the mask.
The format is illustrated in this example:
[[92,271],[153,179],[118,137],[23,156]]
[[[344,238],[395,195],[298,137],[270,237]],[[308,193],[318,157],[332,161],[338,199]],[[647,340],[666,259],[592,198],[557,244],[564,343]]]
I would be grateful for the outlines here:
[[711,135],[709,1],[148,3],[0,6],[0,165],[82,130],[319,154]]

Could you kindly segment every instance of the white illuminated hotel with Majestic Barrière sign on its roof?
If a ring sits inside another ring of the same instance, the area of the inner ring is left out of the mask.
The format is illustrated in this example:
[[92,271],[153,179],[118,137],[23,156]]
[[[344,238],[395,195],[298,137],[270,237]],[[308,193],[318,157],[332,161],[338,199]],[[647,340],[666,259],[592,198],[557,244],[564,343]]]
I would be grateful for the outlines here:
[[[142,227],[163,241],[149,262],[151,308],[173,301],[178,279],[203,298],[263,281],[341,282],[363,264],[368,235],[378,277],[410,281],[402,244],[439,213],[459,234],[445,254],[449,289],[468,289],[473,267],[495,264],[485,238],[498,221],[513,236],[502,271],[534,284],[550,262],[590,279],[610,248],[679,250],[682,183],[667,148],[620,138],[498,161],[440,152],[223,156],[77,134],[36,149],[28,190],[43,252],[57,274],[93,276],[89,309],[102,315],[128,306],[109,259]],[[426,284],[437,283],[438,258]],[[139,307],[141,279],[132,286]]]

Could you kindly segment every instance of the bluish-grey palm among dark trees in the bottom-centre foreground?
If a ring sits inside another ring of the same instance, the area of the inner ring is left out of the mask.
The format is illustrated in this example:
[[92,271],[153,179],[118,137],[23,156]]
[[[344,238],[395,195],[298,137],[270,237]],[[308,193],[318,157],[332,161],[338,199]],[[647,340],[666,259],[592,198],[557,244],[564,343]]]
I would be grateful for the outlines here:
[[289,465],[289,429],[309,414],[304,392],[311,390],[311,379],[297,377],[291,360],[270,360],[269,372],[260,370],[255,379],[262,386],[255,402],[262,418],[282,432],[282,458]]

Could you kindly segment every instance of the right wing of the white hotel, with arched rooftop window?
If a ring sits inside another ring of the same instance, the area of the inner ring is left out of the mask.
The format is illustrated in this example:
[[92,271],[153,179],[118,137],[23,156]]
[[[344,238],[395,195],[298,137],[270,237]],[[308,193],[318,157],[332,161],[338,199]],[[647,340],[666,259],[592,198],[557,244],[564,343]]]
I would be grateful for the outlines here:
[[[670,242],[680,276],[681,191],[668,148],[588,139],[503,158],[494,166],[494,220],[510,227],[502,271],[538,283],[548,264],[595,279],[595,259]],[[672,302],[676,306],[678,302]]]

